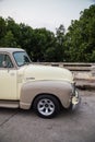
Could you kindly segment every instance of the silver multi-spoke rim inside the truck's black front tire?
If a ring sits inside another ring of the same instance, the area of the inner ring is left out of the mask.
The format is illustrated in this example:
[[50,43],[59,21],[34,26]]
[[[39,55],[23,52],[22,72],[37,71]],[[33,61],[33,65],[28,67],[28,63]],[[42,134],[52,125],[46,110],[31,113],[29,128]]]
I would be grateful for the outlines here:
[[44,116],[49,116],[55,111],[55,104],[48,99],[44,98],[38,102],[38,111]]

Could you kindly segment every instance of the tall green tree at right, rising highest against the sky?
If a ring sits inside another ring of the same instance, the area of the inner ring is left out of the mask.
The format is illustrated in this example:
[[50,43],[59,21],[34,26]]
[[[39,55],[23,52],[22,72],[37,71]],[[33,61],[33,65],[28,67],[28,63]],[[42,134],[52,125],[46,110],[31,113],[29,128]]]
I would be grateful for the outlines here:
[[95,61],[95,5],[81,12],[79,21],[72,21],[66,35],[66,46],[68,61]]

